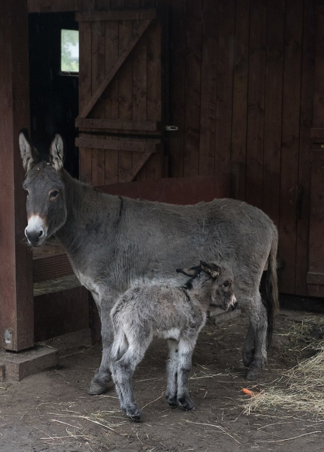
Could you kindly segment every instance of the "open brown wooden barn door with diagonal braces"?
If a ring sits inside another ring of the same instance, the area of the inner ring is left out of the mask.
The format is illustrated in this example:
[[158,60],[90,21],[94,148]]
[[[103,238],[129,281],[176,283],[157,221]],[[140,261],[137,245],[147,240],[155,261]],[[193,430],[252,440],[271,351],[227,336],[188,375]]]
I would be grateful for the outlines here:
[[81,12],[79,178],[94,186],[159,179],[161,26],[155,9]]

